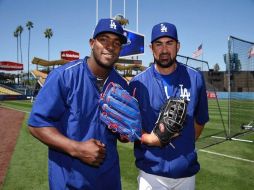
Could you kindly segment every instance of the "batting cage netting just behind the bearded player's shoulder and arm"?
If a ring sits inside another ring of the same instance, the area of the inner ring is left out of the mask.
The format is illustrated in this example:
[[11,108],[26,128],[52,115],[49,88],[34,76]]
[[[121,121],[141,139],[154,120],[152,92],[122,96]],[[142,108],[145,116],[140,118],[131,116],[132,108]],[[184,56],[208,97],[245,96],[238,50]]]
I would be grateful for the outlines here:
[[[214,144],[224,142],[227,139],[226,126],[227,123],[227,100],[220,100],[217,97],[217,90],[211,79],[211,71],[207,61],[193,59],[190,57],[178,55],[177,60],[186,64],[196,70],[199,70],[205,79],[208,108],[209,108],[209,122],[206,124],[202,135],[197,141],[198,148],[206,148]],[[219,138],[213,138],[219,137]]]

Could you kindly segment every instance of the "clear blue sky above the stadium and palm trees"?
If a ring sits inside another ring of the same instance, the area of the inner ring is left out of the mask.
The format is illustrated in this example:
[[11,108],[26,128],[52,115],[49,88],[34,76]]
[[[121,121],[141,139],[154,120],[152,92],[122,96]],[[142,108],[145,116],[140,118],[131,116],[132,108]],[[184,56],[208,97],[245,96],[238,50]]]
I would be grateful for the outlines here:
[[[110,0],[98,0],[99,18],[110,17]],[[124,0],[112,0],[112,15],[124,13]],[[202,43],[203,60],[212,68],[215,63],[225,70],[223,54],[227,52],[229,35],[254,42],[254,0],[125,0],[126,29],[145,35],[145,54],[139,56],[145,66],[153,60],[149,44],[152,27],[159,22],[171,22],[178,29],[181,42],[179,54],[192,57]],[[60,51],[74,50],[83,58],[90,55],[89,38],[96,24],[96,0],[0,0],[0,61],[16,61],[18,25],[22,25],[22,53],[27,70],[27,21],[31,30],[30,60],[47,59],[46,28],[52,28],[50,60],[60,58]],[[202,57],[199,57],[202,59]],[[30,65],[30,68],[35,68]]]

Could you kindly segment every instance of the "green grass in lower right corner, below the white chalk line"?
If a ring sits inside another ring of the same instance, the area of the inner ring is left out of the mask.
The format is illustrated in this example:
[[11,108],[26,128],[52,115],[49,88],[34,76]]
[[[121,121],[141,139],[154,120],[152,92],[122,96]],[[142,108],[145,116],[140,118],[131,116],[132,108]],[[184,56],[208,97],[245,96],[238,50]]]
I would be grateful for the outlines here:
[[[223,149],[223,146],[219,145]],[[232,154],[236,156],[237,154]],[[237,155],[241,156],[241,155]],[[199,152],[201,170],[197,174],[197,189],[251,190],[254,185],[254,163]]]

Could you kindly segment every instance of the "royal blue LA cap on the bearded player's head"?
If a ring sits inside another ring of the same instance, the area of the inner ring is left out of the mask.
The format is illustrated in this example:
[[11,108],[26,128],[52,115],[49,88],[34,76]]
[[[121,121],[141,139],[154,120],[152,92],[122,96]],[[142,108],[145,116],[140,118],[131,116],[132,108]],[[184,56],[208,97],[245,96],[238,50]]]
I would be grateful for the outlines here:
[[161,37],[170,37],[178,42],[177,30],[175,25],[168,22],[156,24],[152,29],[151,43]]

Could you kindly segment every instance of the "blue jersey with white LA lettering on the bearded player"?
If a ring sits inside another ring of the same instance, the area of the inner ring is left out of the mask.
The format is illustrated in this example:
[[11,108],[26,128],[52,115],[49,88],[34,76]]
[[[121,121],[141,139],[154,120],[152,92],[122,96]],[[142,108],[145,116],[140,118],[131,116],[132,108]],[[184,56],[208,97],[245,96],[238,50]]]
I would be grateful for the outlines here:
[[195,151],[194,121],[204,125],[208,120],[208,102],[203,76],[197,70],[177,62],[170,75],[160,75],[153,64],[130,82],[136,88],[136,98],[142,115],[142,128],[150,133],[160,108],[169,97],[188,100],[186,121],[181,135],[164,148],[135,142],[136,166],[150,174],[182,178],[196,174],[200,165]]

